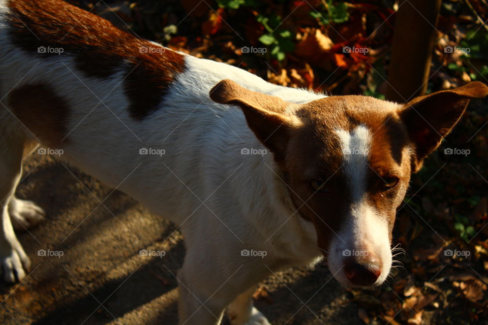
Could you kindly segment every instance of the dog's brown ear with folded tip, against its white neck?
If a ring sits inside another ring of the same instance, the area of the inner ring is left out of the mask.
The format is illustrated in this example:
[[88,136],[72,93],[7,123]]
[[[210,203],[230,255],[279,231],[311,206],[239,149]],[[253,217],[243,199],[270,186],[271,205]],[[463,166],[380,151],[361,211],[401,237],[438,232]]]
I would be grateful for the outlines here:
[[299,125],[298,119],[285,115],[285,111],[295,104],[251,91],[228,79],[210,90],[210,99],[220,104],[239,106],[259,141],[275,154],[278,162],[284,160],[290,130]]

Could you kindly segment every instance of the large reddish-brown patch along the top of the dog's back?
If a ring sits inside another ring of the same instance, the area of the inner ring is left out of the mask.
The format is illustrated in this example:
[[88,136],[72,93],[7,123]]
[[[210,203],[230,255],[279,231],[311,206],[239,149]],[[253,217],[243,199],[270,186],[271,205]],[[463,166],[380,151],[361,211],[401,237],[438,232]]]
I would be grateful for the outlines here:
[[[11,0],[10,37],[21,49],[41,58],[75,59],[87,77],[109,78],[123,71],[130,115],[142,120],[158,109],[173,79],[185,71],[184,55],[140,40],[99,16],[60,0]],[[62,48],[61,55],[38,53]],[[141,49],[147,49],[141,50]]]

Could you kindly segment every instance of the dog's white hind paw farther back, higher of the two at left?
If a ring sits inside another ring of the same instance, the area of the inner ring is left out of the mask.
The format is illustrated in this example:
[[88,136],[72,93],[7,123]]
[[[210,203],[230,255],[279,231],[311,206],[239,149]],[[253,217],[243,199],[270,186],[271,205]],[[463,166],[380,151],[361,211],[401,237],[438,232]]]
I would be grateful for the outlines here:
[[22,231],[44,220],[45,212],[32,201],[12,198],[9,202],[9,214],[14,229]]

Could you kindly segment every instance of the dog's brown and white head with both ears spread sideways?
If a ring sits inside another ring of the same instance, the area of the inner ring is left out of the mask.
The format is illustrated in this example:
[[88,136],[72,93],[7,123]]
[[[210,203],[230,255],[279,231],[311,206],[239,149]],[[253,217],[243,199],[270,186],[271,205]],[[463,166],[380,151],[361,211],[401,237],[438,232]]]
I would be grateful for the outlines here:
[[488,95],[472,82],[395,104],[368,96],[330,96],[306,104],[223,80],[217,103],[239,106],[283,171],[301,217],[313,222],[334,277],[351,286],[381,284],[390,272],[396,209],[422,161],[463,115]]

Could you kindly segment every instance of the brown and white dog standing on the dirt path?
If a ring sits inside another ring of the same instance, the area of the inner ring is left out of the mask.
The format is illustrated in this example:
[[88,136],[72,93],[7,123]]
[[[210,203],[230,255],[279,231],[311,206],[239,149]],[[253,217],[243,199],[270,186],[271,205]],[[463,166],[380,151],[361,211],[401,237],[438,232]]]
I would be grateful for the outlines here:
[[345,285],[379,285],[410,174],[483,98],[480,82],[395,104],[272,85],[140,40],[60,0],[0,0],[0,264],[29,259],[11,218],[39,143],[180,226],[180,323],[267,324],[255,285],[328,259]]

